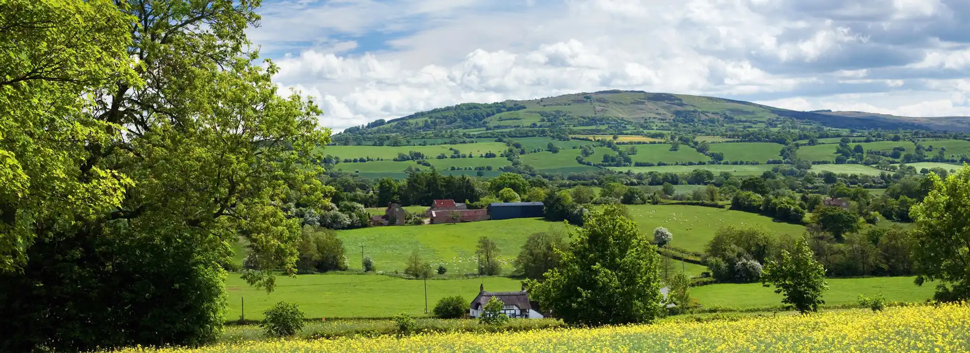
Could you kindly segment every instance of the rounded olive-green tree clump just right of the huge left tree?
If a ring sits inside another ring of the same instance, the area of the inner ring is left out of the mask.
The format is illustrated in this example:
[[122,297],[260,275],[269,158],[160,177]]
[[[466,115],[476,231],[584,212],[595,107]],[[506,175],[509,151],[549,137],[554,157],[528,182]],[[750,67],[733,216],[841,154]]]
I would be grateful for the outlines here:
[[343,242],[330,229],[304,226],[300,243],[297,243],[299,260],[297,270],[306,273],[346,271],[347,259],[343,254]]

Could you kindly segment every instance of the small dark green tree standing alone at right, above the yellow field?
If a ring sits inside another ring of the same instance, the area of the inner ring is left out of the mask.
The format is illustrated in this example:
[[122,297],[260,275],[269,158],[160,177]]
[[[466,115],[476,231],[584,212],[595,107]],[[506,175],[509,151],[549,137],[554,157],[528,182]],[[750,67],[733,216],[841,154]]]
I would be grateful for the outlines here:
[[825,269],[812,257],[804,239],[798,239],[793,250],[782,250],[778,261],[769,260],[764,265],[761,283],[774,285],[775,293],[785,296],[783,304],[800,312],[817,311],[825,303],[822,293],[828,289]]

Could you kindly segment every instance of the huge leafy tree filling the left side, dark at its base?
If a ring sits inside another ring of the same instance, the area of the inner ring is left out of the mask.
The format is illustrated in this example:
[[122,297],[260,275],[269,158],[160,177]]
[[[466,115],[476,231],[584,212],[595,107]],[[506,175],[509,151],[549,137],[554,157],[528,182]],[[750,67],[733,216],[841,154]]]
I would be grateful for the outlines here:
[[[243,30],[258,1],[0,6],[0,60],[30,64],[0,77],[12,103],[0,109],[13,111],[0,114],[2,248],[15,270],[0,275],[0,350],[211,341],[225,320],[220,264],[241,236],[258,259],[251,283],[271,290],[271,270],[295,272],[300,223],[280,207],[326,201],[307,166],[329,131],[312,102],[280,96],[272,63],[251,64]],[[16,25],[31,14],[41,24]],[[72,45],[83,50],[60,63],[43,53]],[[75,83],[76,71],[103,79]],[[63,77],[10,78],[35,72]]]

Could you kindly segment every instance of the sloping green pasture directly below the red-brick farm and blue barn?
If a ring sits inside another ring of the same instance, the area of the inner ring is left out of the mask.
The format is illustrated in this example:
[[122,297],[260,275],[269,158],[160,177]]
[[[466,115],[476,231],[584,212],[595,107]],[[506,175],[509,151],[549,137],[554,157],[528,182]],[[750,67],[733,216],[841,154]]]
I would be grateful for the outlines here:
[[546,231],[558,222],[541,219],[515,219],[501,221],[472,221],[457,224],[426,224],[379,226],[340,230],[350,268],[360,269],[361,246],[370,255],[379,271],[404,271],[407,256],[420,250],[425,260],[434,267],[443,265],[449,275],[474,272],[475,247],[478,238],[485,236],[499,246],[502,270],[512,270],[512,258],[519,253],[529,235]]

